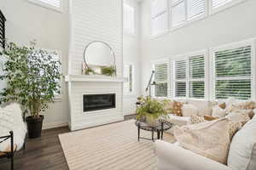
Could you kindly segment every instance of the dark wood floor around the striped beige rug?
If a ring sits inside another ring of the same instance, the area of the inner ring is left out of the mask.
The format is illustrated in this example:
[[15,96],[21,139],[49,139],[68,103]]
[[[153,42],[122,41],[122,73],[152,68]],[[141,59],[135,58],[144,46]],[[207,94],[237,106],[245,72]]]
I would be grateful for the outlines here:
[[[125,116],[125,120],[134,118]],[[68,127],[57,127],[42,132],[41,138],[27,139],[26,150],[15,154],[15,170],[68,170],[58,134],[69,132]],[[9,170],[9,161],[0,159],[0,170]]]

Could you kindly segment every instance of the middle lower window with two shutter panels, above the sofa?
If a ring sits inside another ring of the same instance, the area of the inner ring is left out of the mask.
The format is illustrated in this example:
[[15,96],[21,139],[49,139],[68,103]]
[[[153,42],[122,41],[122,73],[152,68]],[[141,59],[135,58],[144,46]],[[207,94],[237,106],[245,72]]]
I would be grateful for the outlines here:
[[205,54],[189,54],[174,60],[174,96],[205,98]]

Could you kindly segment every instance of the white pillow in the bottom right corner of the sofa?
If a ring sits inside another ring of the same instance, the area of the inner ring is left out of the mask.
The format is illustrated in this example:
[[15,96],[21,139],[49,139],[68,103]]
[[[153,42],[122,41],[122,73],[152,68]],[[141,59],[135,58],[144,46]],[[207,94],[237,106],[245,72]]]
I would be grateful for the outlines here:
[[233,170],[256,169],[256,116],[233,137],[228,166]]

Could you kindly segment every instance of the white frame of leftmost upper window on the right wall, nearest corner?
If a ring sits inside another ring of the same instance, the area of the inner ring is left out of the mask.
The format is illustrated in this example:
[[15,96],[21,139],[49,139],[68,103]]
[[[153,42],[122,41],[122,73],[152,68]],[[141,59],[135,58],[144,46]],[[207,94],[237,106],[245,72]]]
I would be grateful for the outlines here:
[[[154,0],[150,0],[150,37],[151,38],[156,38],[156,37],[160,37],[163,36],[165,34],[167,34],[170,30],[170,21],[169,21],[169,0],[166,0],[166,11],[162,11],[160,14],[158,14],[157,16],[152,17],[152,3],[154,2]],[[159,34],[153,35],[153,20],[155,20],[156,18],[160,17],[161,15],[166,14],[167,15],[167,28],[166,31],[162,31]]]

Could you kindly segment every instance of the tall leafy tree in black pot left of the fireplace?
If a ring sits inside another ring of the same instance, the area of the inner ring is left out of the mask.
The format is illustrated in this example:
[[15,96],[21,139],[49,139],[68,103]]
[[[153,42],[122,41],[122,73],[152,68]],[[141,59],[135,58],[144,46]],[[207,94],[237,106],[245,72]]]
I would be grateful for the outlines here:
[[55,94],[60,94],[61,62],[54,55],[14,42],[7,43],[0,53],[6,60],[0,79],[7,83],[0,92],[0,102],[18,102],[30,114],[26,116],[29,138],[41,136],[44,116],[40,114],[55,101]]

